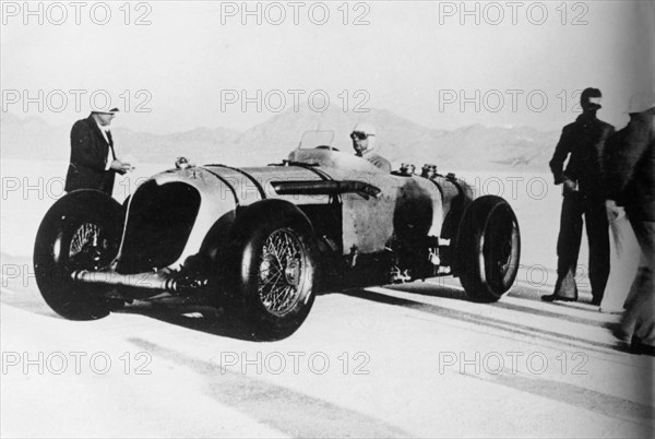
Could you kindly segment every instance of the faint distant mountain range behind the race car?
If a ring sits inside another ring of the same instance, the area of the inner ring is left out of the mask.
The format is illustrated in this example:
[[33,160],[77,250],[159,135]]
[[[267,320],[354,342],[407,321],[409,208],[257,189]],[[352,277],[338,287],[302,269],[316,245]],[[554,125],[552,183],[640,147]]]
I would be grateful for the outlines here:
[[[333,131],[332,145],[350,152],[348,134],[361,120],[376,124],[379,153],[394,167],[413,163],[419,168],[424,163],[431,163],[444,171],[545,170],[559,138],[559,132],[541,132],[529,127],[473,124],[446,131],[419,126],[385,109],[317,112],[307,107],[288,109],[243,132],[228,128],[196,128],[153,134],[117,127],[112,134],[119,156],[135,157],[138,163],[172,164],[177,157],[186,156],[196,164],[252,166],[286,158],[298,146],[303,133],[310,130]],[[2,158],[68,159],[70,128],[50,126],[38,117],[3,112],[0,119]]]

